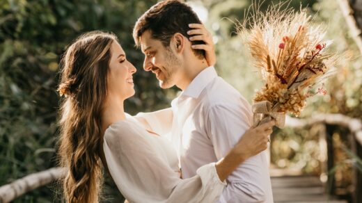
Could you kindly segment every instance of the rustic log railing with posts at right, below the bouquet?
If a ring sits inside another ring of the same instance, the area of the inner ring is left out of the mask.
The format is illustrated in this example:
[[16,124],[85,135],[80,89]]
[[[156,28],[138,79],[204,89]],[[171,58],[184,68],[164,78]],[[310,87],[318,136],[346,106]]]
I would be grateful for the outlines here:
[[[334,146],[333,133],[341,129],[347,134],[347,144],[353,154],[362,158],[362,122],[359,119],[347,117],[342,114],[317,114],[308,119],[287,117],[286,126],[294,129],[304,127],[317,127],[320,136],[320,148],[326,159],[322,161],[322,168],[327,175],[326,193],[336,194],[336,179],[334,178]],[[362,173],[356,168],[352,169],[352,202],[362,202]]]

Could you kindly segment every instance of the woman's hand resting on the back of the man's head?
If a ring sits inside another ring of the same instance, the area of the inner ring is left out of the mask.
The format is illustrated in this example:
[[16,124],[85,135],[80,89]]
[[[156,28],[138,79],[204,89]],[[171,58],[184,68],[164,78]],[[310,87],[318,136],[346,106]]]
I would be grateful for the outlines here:
[[194,44],[192,49],[205,50],[205,58],[209,66],[214,66],[217,63],[217,56],[215,54],[214,43],[212,42],[212,35],[203,24],[189,24],[191,30],[187,34],[190,41],[203,41],[205,44]]

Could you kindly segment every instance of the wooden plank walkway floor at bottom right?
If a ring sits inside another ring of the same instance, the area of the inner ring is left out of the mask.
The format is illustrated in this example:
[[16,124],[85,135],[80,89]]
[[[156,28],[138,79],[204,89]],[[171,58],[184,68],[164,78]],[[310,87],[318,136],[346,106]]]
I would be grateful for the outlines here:
[[333,200],[326,195],[322,182],[317,176],[272,177],[274,202],[328,202],[347,203]]

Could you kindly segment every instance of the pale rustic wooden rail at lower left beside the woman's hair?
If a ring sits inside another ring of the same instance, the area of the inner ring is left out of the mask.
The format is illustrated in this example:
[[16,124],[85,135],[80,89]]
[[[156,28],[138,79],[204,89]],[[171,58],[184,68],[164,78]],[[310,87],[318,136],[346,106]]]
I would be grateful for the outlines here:
[[0,187],[0,202],[10,202],[24,193],[45,186],[50,182],[60,179],[65,175],[62,168],[51,168],[42,172],[29,174],[22,179],[17,179],[11,184]]

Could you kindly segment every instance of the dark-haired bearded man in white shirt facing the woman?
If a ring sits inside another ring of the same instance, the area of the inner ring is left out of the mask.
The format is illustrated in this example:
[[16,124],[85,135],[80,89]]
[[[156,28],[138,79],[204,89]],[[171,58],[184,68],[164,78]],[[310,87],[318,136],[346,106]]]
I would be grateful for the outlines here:
[[[170,136],[180,158],[182,178],[222,159],[252,124],[251,106],[208,67],[205,52],[191,49],[189,24],[197,15],[180,1],[162,1],[134,26],[134,40],[145,54],[143,68],[162,88],[178,86],[171,108],[139,113],[150,129]],[[219,202],[273,202],[265,152],[239,165],[227,179]]]

